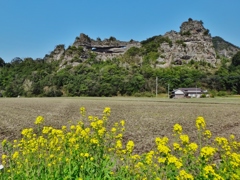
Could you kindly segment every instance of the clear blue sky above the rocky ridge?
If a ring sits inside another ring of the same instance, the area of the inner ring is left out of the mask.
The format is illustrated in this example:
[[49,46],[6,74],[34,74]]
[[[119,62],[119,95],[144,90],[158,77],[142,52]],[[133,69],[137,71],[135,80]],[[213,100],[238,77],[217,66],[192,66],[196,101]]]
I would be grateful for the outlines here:
[[80,33],[142,41],[188,18],[240,47],[239,0],[0,0],[0,57],[43,58]]

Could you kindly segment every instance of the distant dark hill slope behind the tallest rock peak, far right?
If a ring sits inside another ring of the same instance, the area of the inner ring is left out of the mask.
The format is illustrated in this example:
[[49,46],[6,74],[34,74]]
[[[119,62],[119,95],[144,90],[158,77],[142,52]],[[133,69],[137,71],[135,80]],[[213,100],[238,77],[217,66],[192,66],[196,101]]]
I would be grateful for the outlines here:
[[240,48],[225,41],[219,36],[213,37],[213,46],[219,56],[223,56],[226,58],[232,58],[238,51],[240,51]]

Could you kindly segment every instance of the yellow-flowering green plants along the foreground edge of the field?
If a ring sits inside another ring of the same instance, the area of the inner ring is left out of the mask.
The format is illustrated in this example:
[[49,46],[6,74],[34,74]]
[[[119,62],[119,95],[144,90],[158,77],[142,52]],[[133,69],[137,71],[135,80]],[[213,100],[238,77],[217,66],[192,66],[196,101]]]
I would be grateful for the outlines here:
[[56,129],[38,116],[22,137],[2,141],[1,179],[239,179],[240,142],[234,135],[212,137],[196,118],[196,141],[176,123],[170,137],[156,137],[147,152],[124,141],[125,121],[109,126],[111,109],[101,117],[80,108],[80,118]]

